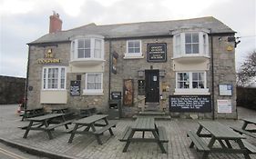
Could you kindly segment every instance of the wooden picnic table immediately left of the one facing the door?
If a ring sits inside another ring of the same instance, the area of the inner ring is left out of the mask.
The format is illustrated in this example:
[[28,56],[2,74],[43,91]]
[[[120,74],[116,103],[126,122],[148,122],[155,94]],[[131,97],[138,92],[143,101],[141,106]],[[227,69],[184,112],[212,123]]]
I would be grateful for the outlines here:
[[[107,119],[107,114],[93,114],[91,116],[79,119],[73,124],[75,124],[74,129],[71,132],[70,138],[68,140],[68,143],[72,143],[73,138],[75,134],[94,134],[97,139],[97,144],[102,144],[99,135],[102,135],[105,131],[109,131],[111,135],[114,135],[112,132],[111,127],[116,126],[117,122],[109,123]],[[98,124],[97,122],[104,121],[104,124]],[[77,131],[81,127],[86,127],[84,131]],[[97,126],[100,126],[102,128],[96,129]],[[89,129],[92,129],[92,132],[89,131]]]

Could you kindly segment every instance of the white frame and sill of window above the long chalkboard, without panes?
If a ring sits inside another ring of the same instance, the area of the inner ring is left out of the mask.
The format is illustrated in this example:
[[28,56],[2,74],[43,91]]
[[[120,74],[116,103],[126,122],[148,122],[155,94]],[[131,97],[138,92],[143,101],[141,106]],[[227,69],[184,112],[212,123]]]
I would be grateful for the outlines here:
[[[189,88],[179,88],[178,74],[187,73],[189,74]],[[193,73],[203,73],[203,84],[204,88],[193,88]],[[205,71],[180,71],[176,72],[176,88],[174,94],[210,94],[207,88],[207,75]]]

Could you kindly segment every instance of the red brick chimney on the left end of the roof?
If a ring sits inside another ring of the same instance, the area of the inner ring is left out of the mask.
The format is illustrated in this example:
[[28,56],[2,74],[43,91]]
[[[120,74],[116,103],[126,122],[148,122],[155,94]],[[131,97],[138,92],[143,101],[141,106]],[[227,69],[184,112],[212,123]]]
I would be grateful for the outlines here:
[[61,31],[62,20],[59,18],[59,15],[54,11],[53,15],[50,15],[50,26],[49,33],[56,33]]

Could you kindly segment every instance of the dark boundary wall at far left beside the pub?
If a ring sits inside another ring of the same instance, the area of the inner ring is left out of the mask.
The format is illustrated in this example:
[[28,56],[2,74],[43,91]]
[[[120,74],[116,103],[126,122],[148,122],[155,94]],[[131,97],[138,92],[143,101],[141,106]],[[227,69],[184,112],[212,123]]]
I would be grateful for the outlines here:
[[25,96],[26,78],[0,75],[0,104],[18,104]]

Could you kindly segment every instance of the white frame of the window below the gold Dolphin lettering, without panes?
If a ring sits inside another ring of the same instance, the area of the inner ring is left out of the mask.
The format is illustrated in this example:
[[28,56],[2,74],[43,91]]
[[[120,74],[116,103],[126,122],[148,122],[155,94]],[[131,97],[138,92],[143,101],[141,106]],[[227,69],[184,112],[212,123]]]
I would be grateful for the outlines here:
[[[49,69],[58,69],[58,73],[57,73],[57,88],[48,88],[48,72]],[[65,80],[64,80],[64,88],[61,88],[61,70],[64,68],[65,70]],[[45,78],[45,69],[46,69],[46,78]],[[44,66],[43,70],[42,70],[42,90],[66,90],[66,84],[67,84],[67,67],[66,66]],[[46,87],[45,87],[46,85]]]

